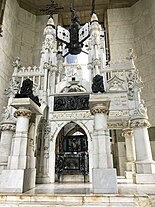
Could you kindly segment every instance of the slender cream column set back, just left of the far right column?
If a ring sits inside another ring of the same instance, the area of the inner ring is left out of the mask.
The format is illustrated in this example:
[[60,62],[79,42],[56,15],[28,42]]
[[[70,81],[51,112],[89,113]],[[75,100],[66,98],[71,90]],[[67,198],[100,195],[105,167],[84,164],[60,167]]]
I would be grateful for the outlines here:
[[132,179],[133,174],[135,173],[135,144],[134,136],[131,128],[124,128],[123,137],[125,138],[126,146],[126,171],[125,177]]

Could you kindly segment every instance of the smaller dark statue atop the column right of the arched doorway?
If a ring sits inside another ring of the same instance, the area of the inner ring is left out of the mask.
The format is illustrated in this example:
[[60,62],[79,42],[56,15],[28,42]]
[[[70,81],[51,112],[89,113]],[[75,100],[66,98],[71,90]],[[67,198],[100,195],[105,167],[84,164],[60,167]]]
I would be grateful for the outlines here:
[[105,92],[104,85],[103,85],[103,77],[101,75],[96,75],[93,78],[92,91],[93,93]]

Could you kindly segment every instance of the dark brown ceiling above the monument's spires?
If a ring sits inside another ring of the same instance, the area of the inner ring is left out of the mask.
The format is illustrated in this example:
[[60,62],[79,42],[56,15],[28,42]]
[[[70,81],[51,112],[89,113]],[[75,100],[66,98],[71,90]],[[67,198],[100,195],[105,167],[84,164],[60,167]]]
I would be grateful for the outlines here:
[[[17,0],[20,7],[28,10],[35,15],[43,15],[47,8],[46,5],[51,3],[51,0]],[[76,9],[80,23],[90,21],[90,14],[92,10],[93,0],[55,0],[54,2],[58,7],[63,7],[56,11],[59,13],[59,18],[63,26],[70,25],[70,7],[72,6]],[[135,4],[138,0],[96,0],[95,1],[95,12],[99,18],[99,22],[102,23],[104,20],[105,11],[108,8],[122,8],[130,7]]]

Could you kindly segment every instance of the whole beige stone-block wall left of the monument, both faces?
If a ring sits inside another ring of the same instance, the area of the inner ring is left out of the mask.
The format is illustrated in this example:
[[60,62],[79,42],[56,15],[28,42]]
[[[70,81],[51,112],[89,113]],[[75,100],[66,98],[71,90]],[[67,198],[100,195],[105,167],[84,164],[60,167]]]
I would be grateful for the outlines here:
[[20,8],[16,0],[7,0],[3,20],[3,37],[0,37],[0,114],[6,106],[4,95],[11,78],[15,57],[22,65],[39,65],[43,29],[48,17],[38,16]]

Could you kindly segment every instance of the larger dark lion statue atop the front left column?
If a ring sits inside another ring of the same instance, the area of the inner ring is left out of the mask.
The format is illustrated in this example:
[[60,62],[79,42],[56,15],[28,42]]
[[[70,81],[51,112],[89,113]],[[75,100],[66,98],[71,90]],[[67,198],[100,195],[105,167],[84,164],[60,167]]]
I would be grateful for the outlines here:
[[41,106],[39,103],[39,98],[38,96],[33,95],[33,81],[30,79],[26,79],[22,83],[22,87],[20,90],[20,93],[17,93],[15,95],[15,98],[30,98],[32,99],[38,106]]

